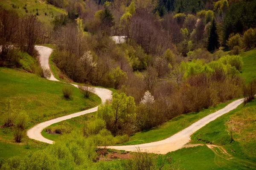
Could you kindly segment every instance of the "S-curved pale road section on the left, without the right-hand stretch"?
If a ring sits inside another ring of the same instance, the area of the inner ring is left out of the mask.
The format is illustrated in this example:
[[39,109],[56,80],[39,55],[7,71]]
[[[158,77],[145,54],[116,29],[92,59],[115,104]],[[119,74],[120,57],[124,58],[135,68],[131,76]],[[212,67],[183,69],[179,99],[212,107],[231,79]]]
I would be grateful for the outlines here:
[[[49,67],[49,56],[52,53],[52,49],[48,48],[48,47],[44,47],[44,46],[35,46],[36,50],[38,50],[39,54],[40,54],[40,64],[42,68],[50,68]],[[58,79],[56,79],[53,74],[51,74],[51,77],[48,78],[49,80],[52,81],[59,81]],[[77,87],[77,85],[71,84],[75,87]],[[112,98],[112,91],[105,89],[105,88],[94,88],[95,89],[95,94],[98,95],[101,100],[102,103],[104,103],[107,99],[111,99]],[[63,120],[67,120],[67,119],[71,119],[73,117],[77,117],[77,116],[81,116],[87,113],[92,113],[98,110],[98,106],[95,108],[91,108],[89,110],[85,110],[85,111],[81,111],[78,113],[73,113],[67,116],[62,116],[62,117],[58,117],[56,119],[52,119],[49,120],[47,122],[42,122],[38,125],[35,125],[34,127],[32,127],[31,129],[29,129],[27,131],[27,136],[29,136],[29,138],[31,139],[35,139],[41,142],[45,142],[45,143],[49,143],[49,144],[53,144],[53,141],[44,138],[41,135],[42,130],[44,130],[44,128],[54,124],[54,123],[58,123],[61,122]]]

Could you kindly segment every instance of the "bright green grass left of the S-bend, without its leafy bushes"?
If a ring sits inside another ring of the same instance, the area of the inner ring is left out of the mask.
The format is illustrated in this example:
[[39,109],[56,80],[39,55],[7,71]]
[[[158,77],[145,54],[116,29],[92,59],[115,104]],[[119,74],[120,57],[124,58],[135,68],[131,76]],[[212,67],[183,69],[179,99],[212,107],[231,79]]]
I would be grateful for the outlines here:
[[[92,108],[101,103],[96,95],[90,99],[84,99],[79,89],[72,85],[52,82],[23,71],[0,68],[0,79],[0,114],[5,110],[6,100],[11,99],[14,108],[22,106],[22,110],[29,115],[28,127],[55,117]],[[72,100],[63,98],[61,92],[63,86],[73,88]],[[0,125],[2,124],[3,119],[0,119]],[[7,158],[29,151],[25,149],[26,143],[15,144],[12,132],[9,130],[6,134],[5,130],[0,129],[0,157]],[[18,145],[21,145],[19,149],[17,149]],[[37,149],[41,148],[42,143],[29,139],[29,145]]]

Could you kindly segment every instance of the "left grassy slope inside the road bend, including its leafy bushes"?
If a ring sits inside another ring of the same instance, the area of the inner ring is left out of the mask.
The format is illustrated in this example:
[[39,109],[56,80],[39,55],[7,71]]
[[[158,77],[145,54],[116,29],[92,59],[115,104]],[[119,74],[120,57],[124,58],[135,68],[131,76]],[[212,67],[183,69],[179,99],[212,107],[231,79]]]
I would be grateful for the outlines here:
[[[71,85],[52,82],[24,70],[0,68],[0,79],[0,146],[4,158],[38,150],[45,145],[25,137],[29,127],[101,103],[96,95],[84,98],[79,89]],[[73,89],[71,100],[64,99],[63,87]],[[21,143],[15,144],[15,141]]]

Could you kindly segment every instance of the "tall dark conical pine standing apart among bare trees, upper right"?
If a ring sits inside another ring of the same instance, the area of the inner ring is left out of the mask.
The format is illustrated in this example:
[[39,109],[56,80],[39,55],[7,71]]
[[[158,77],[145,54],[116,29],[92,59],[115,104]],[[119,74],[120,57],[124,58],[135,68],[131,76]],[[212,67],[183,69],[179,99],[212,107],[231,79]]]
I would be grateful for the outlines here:
[[210,52],[213,52],[217,48],[219,48],[217,26],[216,26],[215,19],[213,19],[212,24],[210,26],[209,36],[208,36],[207,50]]

